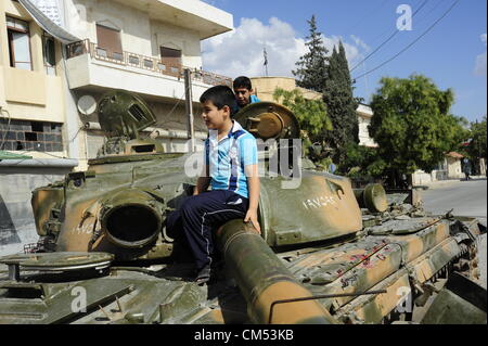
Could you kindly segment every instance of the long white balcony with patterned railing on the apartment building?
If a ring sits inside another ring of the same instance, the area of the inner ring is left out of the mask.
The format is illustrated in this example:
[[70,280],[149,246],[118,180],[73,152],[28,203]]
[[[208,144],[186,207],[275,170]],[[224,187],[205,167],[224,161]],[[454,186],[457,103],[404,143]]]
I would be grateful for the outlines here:
[[[183,65],[132,52],[112,52],[86,39],[66,47],[70,89],[125,89],[137,93],[184,98]],[[193,101],[209,87],[232,87],[232,79],[197,68],[192,71]]]

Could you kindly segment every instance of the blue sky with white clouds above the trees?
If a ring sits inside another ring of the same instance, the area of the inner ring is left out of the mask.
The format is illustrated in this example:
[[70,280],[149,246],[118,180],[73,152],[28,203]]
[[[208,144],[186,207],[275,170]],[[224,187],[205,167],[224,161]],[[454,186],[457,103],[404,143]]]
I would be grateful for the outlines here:
[[[234,16],[234,31],[204,41],[204,68],[235,77],[265,75],[262,49],[267,48],[270,76],[293,76],[294,63],[305,52],[307,20],[317,17],[318,29],[330,49],[341,39],[351,73],[357,77],[394,56],[421,36],[455,0],[207,0]],[[397,31],[408,4],[412,30],[398,31],[381,50],[361,61]],[[451,88],[451,112],[468,120],[487,113],[486,0],[460,0],[457,5],[409,50],[380,69],[357,79],[355,93],[365,102],[383,76],[423,74],[442,90]]]

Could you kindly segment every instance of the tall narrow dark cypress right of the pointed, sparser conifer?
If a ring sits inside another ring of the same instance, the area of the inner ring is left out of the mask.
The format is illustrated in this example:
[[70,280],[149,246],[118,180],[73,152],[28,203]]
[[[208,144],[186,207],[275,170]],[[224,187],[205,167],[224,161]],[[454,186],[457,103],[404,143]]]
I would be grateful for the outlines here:
[[335,149],[334,161],[339,164],[341,170],[345,171],[347,146],[349,143],[359,142],[359,125],[356,114],[358,101],[352,94],[349,65],[343,42],[339,42],[338,51],[334,47],[329,57],[323,101],[328,105],[329,116],[334,127],[334,131],[330,133]]

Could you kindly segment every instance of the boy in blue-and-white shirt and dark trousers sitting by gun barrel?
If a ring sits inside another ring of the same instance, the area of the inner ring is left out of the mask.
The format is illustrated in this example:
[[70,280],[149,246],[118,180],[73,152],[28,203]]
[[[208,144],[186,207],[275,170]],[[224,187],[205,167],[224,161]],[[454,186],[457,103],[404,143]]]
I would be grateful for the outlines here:
[[[256,139],[232,119],[239,110],[232,90],[226,86],[210,88],[200,102],[209,130],[205,165],[193,196],[181,208],[181,221],[195,258],[196,282],[205,283],[210,279],[213,230],[231,219],[243,218],[260,233],[259,177]],[[207,191],[209,185],[211,191]]]

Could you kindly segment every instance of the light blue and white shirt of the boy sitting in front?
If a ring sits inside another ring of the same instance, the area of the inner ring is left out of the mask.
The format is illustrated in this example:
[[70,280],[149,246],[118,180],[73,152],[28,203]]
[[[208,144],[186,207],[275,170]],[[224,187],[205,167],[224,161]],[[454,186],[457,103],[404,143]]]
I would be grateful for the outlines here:
[[235,120],[229,134],[220,141],[217,141],[217,131],[210,131],[205,141],[204,159],[209,166],[211,190],[229,190],[248,198],[244,167],[258,163],[253,134]]

